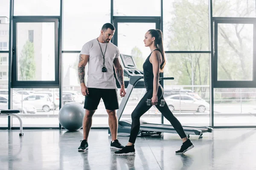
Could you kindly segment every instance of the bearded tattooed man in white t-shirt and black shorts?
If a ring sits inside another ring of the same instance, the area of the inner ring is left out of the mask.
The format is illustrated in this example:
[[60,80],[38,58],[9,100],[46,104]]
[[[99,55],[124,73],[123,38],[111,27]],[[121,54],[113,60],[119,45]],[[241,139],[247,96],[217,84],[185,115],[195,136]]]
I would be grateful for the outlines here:
[[[113,65],[116,77],[121,85],[120,96],[125,96],[125,84],[123,69],[120,65],[120,53],[116,45],[110,41],[115,33],[115,27],[111,23],[105,23],[98,38],[90,40],[82,47],[78,74],[81,83],[81,92],[85,96],[85,115],[83,120],[84,140],[78,148],[85,151],[88,148],[88,135],[92,125],[93,113],[95,113],[100,99],[103,99],[108,113],[108,124],[111,130],[111,148],[121,150],[124,146],[117,140],[116,109],[119,108],[117,98],[116,80],[113,74]],[[87,85],[84,84],[84,68],[88,63]]]

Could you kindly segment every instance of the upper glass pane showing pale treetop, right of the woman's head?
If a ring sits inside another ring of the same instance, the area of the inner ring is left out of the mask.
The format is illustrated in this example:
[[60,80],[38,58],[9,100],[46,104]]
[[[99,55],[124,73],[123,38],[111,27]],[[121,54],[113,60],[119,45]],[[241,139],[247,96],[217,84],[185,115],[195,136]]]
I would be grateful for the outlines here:
[[165,51],[209,51],[208,0],[163,0]]

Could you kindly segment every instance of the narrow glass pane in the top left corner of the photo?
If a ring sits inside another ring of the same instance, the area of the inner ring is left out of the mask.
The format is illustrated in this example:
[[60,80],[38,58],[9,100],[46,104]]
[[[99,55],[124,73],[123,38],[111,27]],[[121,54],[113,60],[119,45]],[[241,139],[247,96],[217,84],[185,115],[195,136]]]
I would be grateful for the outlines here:
[[8,51],[10,1],[0,0],[0,4],[0,51]]

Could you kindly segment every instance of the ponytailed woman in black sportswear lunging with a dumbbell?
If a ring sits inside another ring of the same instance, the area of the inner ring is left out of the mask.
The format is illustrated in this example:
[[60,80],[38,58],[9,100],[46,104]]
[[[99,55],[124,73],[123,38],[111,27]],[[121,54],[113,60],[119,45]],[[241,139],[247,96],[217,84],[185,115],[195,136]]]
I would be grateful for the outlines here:
[[[178,119],[172,114],[169,107],[165,104],[163,107],[157,105],[157,101],[163,98],[163,88],[159,84],[159,73],[163,72],[163,68],[166,64],[166,59],[163,51],[163,35],[159,29],[150,29],[145,34],[144,44],[149,47],[151,53],[143,64],[144,72],[144,84],[146,88],[146,93],[140,100],[134,111],[131,113],[131,134],[128,144],[119,151],[116,151],[116,155],[134,155],[134,143],[137,134],[140,130],[140,117],[151,108],[152,105],[156,105],[157,109],[163,114],[163,116],[169,120],[172,126],[175,128],[183,144],[180,150],[176,151],[177,154],[183,154],[187,150],[194,147],[192,142],[186,137]],[[147,105],[146,100],[151,99],[150,106]],[[165,102],[166,103],[166,102]]]

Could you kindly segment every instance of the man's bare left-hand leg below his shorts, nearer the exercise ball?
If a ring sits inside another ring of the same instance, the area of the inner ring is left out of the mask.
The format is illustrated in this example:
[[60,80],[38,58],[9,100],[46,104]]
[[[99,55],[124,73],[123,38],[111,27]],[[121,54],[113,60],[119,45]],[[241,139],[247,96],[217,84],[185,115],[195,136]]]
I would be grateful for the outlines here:
[[85,109],[85,115],[84,115],[84,120],[83,120],[83,132],[84,132],[84,139],[88,139],[88,135],[90,132],[90,128],[92,126],[92,118],[93,114],[95,113],[96,110],[87,110]]

